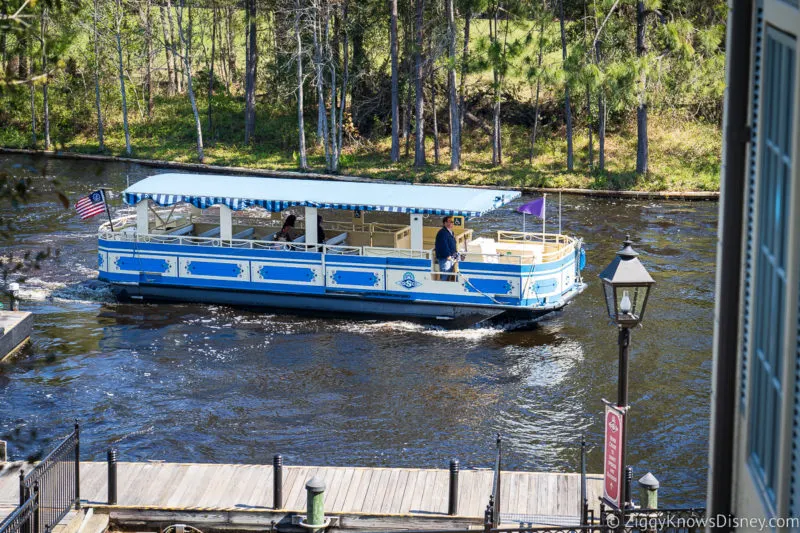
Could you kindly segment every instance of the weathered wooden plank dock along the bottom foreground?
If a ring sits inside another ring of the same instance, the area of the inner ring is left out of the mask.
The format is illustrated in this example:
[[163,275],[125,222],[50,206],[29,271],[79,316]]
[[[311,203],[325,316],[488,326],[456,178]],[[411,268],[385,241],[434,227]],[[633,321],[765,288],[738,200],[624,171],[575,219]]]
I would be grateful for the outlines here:
[[[8,466],[0,471],[3,516],[17,503],[19,490],[19,464]],[[449,471],[443,469],[284,466],[284,505],[275,509],[271,465],[146,462],[117,468],[117,504],[108,505],[107,464],[82,462],[81,501],[109,512],[112,522],[139,530],[176,522],[205,529],[291,526],[293,515],[305,514],[305,484],[315,476],[326,485],[326,515],[338,517],[339,527],[463,529],[483,523],[493,482],[492,470],[460,471],[458,512],[449,516]],[[589,475],[590,505],[601,491],[602,476]],[[571,525],[579,516],[579,474],[502,473],[504,522]]]

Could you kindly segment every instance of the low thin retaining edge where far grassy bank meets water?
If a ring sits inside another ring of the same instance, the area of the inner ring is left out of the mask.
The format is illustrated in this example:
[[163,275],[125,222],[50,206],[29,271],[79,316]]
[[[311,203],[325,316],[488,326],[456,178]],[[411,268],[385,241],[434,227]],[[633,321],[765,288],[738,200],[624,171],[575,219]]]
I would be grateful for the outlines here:
[[[82,154],[78,152],[59,152],[47,150],[31,150],[27,148],[5,148],[0,147],[0,154],[34,155],[44,156],[54,159],[78,159],[98,161],[104,163],[132,163],[148,167],[172,168],[178,170],[199,170],[203,172],[220,172],[228,174],[249,174],[255,176],[279,176],[285,178],[314,178],[333,181],[360,181],[386,183],[387,180],[377,178],[366,178],[362,176],[351,176],[346,174],[334,175],[319,172],[299,172],[288,170],[265,170],[247,167],[229,167],[221,165],[206,165],[203,163],[180,163],[176,161],[161,161],[157,159],[136,159],[132,157],[117,157],[110,155]],[[407,182],[403,182],[407,183]],[[437,184],[444,186],[456,186],[453,184]],[[481,185],[458,185],[459,187],[490,188]],[[523,194],[530,193],[557,193],[575,194],[580,196],[594,196],[600,198],[656,198],[663,200],[703,200],[718,201],[719,191],[622,191],[622,190],[603,190],[603,189],[575,189],[575,188],[545,188],[545,187],[505,187],[491,186],[494,189],[505,189],[520,191]]]

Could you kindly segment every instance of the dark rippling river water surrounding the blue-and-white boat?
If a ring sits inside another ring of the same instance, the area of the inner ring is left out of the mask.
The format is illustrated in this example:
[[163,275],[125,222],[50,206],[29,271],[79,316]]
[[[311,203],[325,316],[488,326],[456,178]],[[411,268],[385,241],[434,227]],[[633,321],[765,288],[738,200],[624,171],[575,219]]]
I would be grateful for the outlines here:
[[[286,464],[446,468],[456,457],[491,467],[500,432],[505,469],[578,471],[585,435],[589,471],[602,472],[602,398],[616,399],[618,353],[597,275],[629,232],[657,285],[632,335],[628,462],[634,480],[656,475],[665,504],[704,504],[714,202],[565,195],[564,232],[586,241],[586,291],[531,331],[444,331],[115,303],[87,283],[101,217],[81,221],[52,191],[74,202],[159,170],[8,155],[0,169],[41,192],[0,206],[16,223],[4,249],[59,250],[23,284],[33,346],[0,367],[0,438],[14,459],[40,456],[78,419],[85,459],[113,444],[121,460],[270,463],[281,453]],[[530,199],[469,227],[521,229],[513,208]]]

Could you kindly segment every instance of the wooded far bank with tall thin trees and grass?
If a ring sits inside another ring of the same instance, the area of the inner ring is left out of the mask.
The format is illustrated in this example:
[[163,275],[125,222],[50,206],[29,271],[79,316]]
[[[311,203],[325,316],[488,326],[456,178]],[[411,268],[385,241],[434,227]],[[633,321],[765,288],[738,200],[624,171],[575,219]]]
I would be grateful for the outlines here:
[[0,146],[718,190],[723,0],[0,0]]

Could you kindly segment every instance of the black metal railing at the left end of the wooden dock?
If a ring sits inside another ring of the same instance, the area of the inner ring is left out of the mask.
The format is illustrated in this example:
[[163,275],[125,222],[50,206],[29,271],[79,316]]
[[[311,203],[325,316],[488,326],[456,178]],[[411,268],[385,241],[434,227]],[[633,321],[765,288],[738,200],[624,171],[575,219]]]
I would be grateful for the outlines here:
[[[52,527],[64,518],[74,505],[80,508],[80,426],[75,429],[36,467],[24,475],[19,473],[20,506],[38,487],[40,524]],[[32,533],[41,533],[41,528]]]

